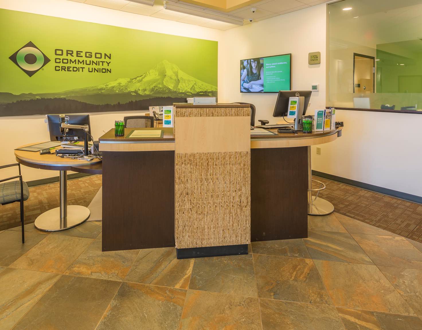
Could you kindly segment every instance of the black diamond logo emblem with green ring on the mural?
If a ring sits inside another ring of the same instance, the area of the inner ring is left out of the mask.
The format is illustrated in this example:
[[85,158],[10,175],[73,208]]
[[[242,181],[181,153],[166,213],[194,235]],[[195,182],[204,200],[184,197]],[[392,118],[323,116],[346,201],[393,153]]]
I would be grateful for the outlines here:
[[30,77],[50,62],[50,59],[31,41],[18,49],[9,58]]

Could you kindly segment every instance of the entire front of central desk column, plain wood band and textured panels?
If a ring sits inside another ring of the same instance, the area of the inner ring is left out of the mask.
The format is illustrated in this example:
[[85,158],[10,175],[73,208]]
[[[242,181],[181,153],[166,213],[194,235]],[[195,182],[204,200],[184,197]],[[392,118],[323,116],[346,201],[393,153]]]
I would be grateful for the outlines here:
[[176,248],[250,242],[250,109],[176,105]]

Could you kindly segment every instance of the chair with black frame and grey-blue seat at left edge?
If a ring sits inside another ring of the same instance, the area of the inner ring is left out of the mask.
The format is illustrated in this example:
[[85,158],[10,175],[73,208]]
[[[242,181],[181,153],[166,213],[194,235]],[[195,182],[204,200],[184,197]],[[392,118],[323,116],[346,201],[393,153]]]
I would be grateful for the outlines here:
[[[0,169],[5,169],[6,167],[18,166],[19,175],[14,177],[8,177],[7,179],[0,180],[0,205],[11,204],[14,202],[21,203],[21,226],[22,226],[22,243],[25,243],[25,234],[24,234],[24,201],[29,198],[29,188],[25,181],[22,181],[21,174],[21,164],[9,164],[0,166]],[[11,182],[5,182],[12,179],[17,179]],[[19,184],[20,183],[20,184]],[[21,191],[24,193],[21,194]]]

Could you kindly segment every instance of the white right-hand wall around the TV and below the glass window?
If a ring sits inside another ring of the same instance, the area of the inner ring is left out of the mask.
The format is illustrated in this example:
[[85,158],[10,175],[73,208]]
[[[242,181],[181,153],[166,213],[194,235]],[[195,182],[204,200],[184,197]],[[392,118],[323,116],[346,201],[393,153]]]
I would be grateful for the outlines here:
[[[219,101],[250,102],[257,108],[256,124],[258,119],[275,123],[276,94],[239,92],[239,60],[292,53],[292,89],[309,90],[318,83],[308,113],[325,108],[326,30],[325,4],[227,30],[220,43],[225,56],[219,59],[224,72]],[[318,51],[321,64],[308,65],[308,53]],[[312,169],[422,196],[422,115],[337,110],[336,120],[344,121],[343,136],[320,145],[321,155],[312,147]]]

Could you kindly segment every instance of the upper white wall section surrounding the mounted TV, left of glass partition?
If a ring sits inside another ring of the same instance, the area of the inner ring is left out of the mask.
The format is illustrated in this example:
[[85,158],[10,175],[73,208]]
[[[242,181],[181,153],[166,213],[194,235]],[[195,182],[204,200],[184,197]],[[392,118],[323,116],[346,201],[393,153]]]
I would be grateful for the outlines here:
[[[219,72],[224,73],[219,85],[219,101],[254,104],[256,125],[258,119],[267,119],[270,123],[282,120],[272,116],[277,93],[240,93],[239,61],[292,53],[292,90],[310,90],[311,84],[319,84],[319,92],[312,93],[308,110],[324,109],[325,8],[325,5],[317,5],[225,31],[219,44],[225,55],[218,63]],[[321,52],[321,64],[308,65],[309,52]]]

